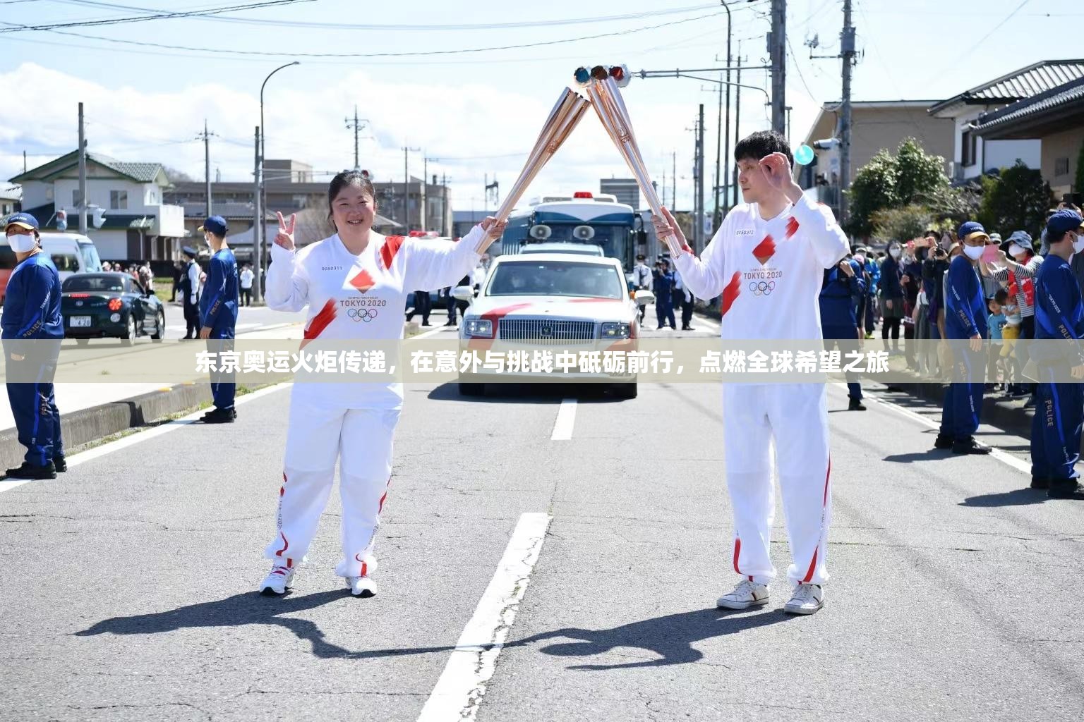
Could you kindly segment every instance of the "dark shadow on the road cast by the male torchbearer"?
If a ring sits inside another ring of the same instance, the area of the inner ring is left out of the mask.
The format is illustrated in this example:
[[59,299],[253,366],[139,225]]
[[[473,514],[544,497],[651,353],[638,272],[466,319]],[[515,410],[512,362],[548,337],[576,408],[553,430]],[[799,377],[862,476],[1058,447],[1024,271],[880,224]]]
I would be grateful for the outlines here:
[[569,669],[599,671],[635,669],[637,667],[669,667],[687,665],[704,658],[704,653],[693,647],[696,642],[785,622],[790,618],[775,609],[739,614],[712,607],[642,619],[611,629],[594,630],[566,627],[517,640],[507,646],[522,646],[553,639],[569,639],[577,641],[551,644],[542,647],[541,652],[558,657],[591,657],[606,654],[617,647],[640,648],[654,653],[661,659],[642,659],[619,665],[582,664],[569,667]]

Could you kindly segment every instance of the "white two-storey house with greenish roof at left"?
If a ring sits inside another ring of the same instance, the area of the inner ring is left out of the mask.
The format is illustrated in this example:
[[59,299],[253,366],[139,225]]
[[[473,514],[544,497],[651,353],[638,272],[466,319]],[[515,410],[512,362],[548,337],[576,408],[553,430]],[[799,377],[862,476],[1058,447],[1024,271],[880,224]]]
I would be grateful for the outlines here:
[[[56,211],[67,213],[68,231],[79,227],[79,154],[50,160],[12,179],[23,189],[23,210],[43,231],[57,229]],[[169,186],[162,163],[128,162],[99,153],[87,154],[87,207],[105,211],[94,228],[88,212],[88,236],[106,261],[170,260],[179,257],[184,209],[166,204]]]

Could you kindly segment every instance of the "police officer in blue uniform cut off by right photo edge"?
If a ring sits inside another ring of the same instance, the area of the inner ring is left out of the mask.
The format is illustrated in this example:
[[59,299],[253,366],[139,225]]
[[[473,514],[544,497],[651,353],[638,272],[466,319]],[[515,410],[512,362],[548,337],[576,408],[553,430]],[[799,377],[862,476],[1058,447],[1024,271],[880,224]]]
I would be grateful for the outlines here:
[[1084,423],[1084,302],[1070,259],[1084,252],[1084,219],[1060,210],[1046,222],[1050,250],[1035,277],[1038,372],[1031,429],[1031,486],[1051,499],[1084,499],[1076,462]]

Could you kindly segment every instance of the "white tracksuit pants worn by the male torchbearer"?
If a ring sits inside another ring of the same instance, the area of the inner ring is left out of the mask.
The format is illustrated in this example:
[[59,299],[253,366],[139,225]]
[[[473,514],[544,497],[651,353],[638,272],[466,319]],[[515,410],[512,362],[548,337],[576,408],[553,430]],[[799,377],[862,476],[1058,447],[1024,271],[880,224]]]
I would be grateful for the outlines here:
[[771,443],[779,474],[793,582],[822,585],[831,518],[828,408],[823,383],[723,384],[726,484],[734,507],[734,570],[760,583],[775,578]]

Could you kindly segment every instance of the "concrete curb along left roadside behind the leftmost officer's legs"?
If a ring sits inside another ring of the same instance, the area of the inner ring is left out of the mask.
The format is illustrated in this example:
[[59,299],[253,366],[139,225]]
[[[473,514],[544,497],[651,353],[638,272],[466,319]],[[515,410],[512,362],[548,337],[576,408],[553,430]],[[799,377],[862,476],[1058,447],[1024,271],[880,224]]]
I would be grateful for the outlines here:
[[[170,413],[210,402],[210,398],[209,383],[191,383],[62,413],[64,446],[74,448],[128,429],[145,426]],[[25,454],[26,447],[18,443],[15,429],[0,432],[0,469],[20,465]]]

